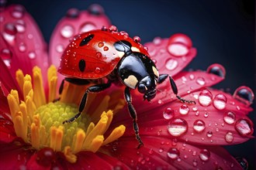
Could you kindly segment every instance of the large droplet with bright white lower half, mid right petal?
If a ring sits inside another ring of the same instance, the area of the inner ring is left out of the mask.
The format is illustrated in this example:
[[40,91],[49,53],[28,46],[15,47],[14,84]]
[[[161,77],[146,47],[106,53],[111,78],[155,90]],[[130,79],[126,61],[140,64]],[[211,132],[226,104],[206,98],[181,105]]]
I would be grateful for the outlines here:
[[175,137],[181,136],[188,131],[188,123],[182,118],[172,119],[168,124],[168,132]]

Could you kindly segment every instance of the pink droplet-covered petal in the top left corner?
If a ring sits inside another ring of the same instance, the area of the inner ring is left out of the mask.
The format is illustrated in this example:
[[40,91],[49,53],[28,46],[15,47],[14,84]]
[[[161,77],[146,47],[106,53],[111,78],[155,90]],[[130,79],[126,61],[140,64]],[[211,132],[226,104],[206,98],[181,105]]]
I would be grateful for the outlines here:
[[21,5],[10,5],[2,9],[1,15],[3,22],[0,30],[8,47],[3,46],[4,49],[0,50],[7,48],[12,53],[9,57],[12,76],[18,69],[31,75],[33,66],[40,66],[43,75],[47,75],[47,46],[33,18]]

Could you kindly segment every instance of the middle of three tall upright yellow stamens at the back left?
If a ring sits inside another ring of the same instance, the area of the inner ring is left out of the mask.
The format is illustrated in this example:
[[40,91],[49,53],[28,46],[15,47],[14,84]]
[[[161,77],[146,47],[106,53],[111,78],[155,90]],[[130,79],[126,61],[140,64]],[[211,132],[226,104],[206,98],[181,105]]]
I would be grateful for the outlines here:
[[43,90],[43,78],[41,70],[38,66],[33,68],[33,80],[34,80],[34,96],[33,101],[36,104],[36,107],[40,107],[44,104],[47,104],[45,98],[45,93]]

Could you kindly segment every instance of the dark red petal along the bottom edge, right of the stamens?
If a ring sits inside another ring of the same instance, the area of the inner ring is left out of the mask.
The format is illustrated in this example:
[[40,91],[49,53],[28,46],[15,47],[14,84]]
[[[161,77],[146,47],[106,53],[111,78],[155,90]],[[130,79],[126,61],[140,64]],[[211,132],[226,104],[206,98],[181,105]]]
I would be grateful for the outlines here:
[[195,147],[170,138],[144,137],[144,147],[136,149],[133,138],[120,138],[109,145],[109,154],[130,168],[163,169],[242,169],[237,161],[220,147]]

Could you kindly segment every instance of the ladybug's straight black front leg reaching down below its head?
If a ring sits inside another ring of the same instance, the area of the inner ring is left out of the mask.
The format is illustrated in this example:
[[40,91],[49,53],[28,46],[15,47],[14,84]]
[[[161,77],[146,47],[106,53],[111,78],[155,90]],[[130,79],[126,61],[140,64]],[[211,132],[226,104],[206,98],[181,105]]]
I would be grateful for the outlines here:
[[133,118],[133,130],[135,132],[137,141],[139,141],[139,145],[137,146],[137,148],[140,148],[140,146],[143,146],[144,144],[139,135],[139,126],[137,124],[137,113],[132,104],[132,97],[130,96],[130,88],[129,87],[126,87],[126,89],[124,91],[124,95],[126,98],[126,103],[128,104],[128,111],[129,111],[130,117]]

